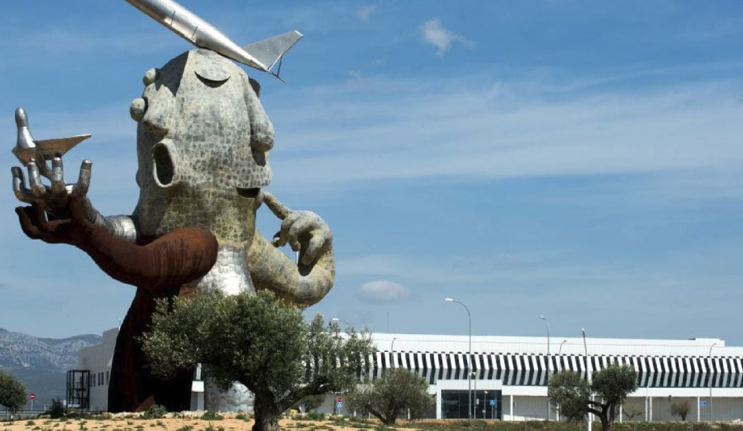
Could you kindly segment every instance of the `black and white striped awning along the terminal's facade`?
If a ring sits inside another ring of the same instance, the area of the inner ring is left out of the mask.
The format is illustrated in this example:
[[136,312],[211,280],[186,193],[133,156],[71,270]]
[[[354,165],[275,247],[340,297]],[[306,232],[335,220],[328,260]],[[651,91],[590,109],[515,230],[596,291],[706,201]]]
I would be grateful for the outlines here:
[[[596,372],[613,363],[629,364],[639,374],[640,387],[743,387],[743,358],[699,356],[589,355]],[[470,358],[476,378],[499,380],[507,386],[544,386],[547,355],[473,353]],[[551,372],[563,369],[585,376],[583,355],[551,355]],[[461,352],[376,352],[366,361],[363,380],[379,378],[388,368],[406,368],[428,379],[466,380],[470,369],[467,353]]]

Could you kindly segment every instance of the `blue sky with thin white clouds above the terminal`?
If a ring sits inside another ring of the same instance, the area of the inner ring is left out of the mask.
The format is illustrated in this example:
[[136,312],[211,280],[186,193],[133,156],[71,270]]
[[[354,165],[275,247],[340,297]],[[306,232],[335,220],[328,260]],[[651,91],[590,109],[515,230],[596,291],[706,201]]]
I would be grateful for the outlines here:
[[[374,331],[719,337],[743,344],[743,4],[183,1],[247,43],[296,29],[269,190],[334,230],[308,313]],[[191,48],[125,1],[0,4],[0,327],[61,337],[134,288],[28,240],[10,189],[22,105],[38,139],[91,132],[91,200],[130,214],[145,70]],[[265,209],[259,229],[278,223]]]

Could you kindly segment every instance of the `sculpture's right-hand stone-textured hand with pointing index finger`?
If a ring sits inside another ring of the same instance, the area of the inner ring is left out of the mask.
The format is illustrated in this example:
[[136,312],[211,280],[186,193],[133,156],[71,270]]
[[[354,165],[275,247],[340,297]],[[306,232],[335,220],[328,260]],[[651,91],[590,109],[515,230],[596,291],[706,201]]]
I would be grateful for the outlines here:
[[293,251],[300,252],[302,265],[315,263],[333,241],[328,223],[312,211],[292,211],[267,191],[262,194],[263,202],[282,220],[281,228],[273,235],[273,245],[281,247],[288,243]]

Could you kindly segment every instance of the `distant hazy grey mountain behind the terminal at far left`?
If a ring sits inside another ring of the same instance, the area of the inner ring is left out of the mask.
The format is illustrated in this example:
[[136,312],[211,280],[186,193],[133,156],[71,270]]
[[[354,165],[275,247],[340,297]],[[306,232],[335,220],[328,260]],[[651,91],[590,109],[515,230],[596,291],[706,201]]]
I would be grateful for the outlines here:
[[0,370],[23,381],[36,394],[33,408],[42,409],[52,398],[65,399],[66,372],[77,367],[77,353],[100,340],[100,335],[36,338],[0,328]]

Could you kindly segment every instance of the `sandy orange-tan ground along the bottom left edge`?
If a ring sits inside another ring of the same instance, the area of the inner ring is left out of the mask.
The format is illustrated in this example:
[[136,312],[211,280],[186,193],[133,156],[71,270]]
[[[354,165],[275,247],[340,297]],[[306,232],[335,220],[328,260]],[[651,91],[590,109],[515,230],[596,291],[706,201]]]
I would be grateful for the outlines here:
[[[339,427],[330,421],[293,421],[291,419],[282,419],[279,421],[279,426],[282,430],[358,430],[353,427]],[[41,418],[32,421],[0,423],[0,431],[176,431],[183,430],[184,427],[191,427],[190,431],[207,430],[210,427],[214,431],[244,431],[253,427],[253,421],[235,418],[224,418],[219,421],[204,421],[199,418],[112,418],[106,420],[68,419],[65,422],[59,419]],[[413,429],[398,427],[397,430]]]

